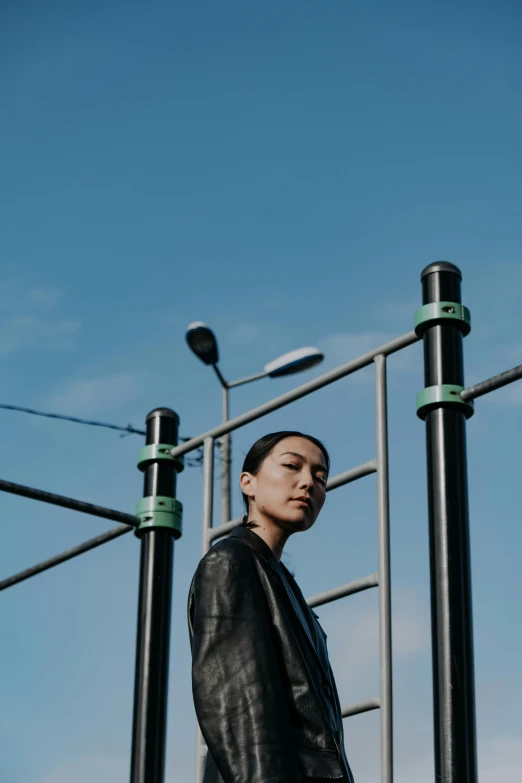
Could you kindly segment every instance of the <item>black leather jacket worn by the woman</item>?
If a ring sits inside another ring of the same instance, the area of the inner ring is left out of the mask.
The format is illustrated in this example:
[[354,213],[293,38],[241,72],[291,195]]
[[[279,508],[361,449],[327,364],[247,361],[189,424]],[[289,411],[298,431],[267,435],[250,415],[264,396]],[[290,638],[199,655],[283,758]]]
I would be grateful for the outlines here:
[[353,783],[326,634],[252,530],[234,528],[200,561],[188,622],[203,783]]

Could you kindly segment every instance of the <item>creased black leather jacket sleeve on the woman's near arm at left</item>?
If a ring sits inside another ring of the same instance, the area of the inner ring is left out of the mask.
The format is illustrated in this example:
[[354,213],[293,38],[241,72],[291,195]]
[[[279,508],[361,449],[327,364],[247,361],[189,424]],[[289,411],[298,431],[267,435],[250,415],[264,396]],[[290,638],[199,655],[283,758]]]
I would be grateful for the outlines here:
[[301,783],[290,689],[264,590],[244,547],[230,539],[218,544],[196,572],[196,714],[224,783]]

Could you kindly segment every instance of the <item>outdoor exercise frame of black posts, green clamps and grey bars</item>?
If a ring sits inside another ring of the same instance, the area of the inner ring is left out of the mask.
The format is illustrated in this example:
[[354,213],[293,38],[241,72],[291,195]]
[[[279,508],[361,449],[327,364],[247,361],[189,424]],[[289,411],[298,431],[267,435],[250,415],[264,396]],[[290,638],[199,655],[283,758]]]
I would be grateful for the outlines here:
[[[0,491],[113,520],[109,530],[53,558],[0,581],[0,590],[70,560],[134,530],[141,542],[137,622],[131,783],[163,783],[166,747],[168,660],[174,540],[181,536],[176,476],[183,455],[203,446],[203,554],[239,520],[213,527],[214,444],[217,438],[325,386],[373,365],[375,368],[375,459],[329,479],[327,491],[375,473],[377,476],[378,568],[375,573],[326,590],[311,607],[379,588],[380,692],[342,709],[344,718],[380,710],[381,783],[393,781],[392,629],[390,514],[388,490],[387,357],[423,340],[425,388],[417,415],[426,423],[430,581],[432,608],[435,780],[477,783],[471,563],[466,467],[466,421],[473,400],[522,378],[522,365],[464,388],[463,338],[471,329],[461,303],[460,270],[437,262],[421,275],[423,304],[415,329],[352,359],[286,394],[218,427],[178,443],[179,419],[169,408],[147,416],[146,445],[138,467],[144,473],[143,499],[136,516],[0,480]],[[196,783],[201,783],[206,749],[197,733]]]

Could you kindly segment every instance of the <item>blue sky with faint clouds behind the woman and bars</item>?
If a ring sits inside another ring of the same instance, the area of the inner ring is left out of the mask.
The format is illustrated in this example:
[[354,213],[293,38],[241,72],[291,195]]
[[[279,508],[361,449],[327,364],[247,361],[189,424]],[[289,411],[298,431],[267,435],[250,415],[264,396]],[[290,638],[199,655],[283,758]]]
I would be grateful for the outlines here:
[[[184,343],[201,319],[230,379],[302,345],[343,363],[412,328],[419,276],[464,275],[471,384],[522,359],[518,4],[21,2],[2,8],[0,402],[181,433],[219,422]],[[390,359],[396,774],[433,779],[419,345]],[[301,378],[234,391],[232,413]],[[481,783],[522,765],[517,622],[522,385],[468,425]],[[0,412],[3,478],[132,512],[141,440]],[[373,458],[371,373],[234,436],[321,437],[335,473]],[[185,622],[201,472],[179,479],[167,783],[192,779]],[[235,511],[239,513],[239,490]],[[2,497],[3,576],[109,524]],[[376,569],[375,479],[333,493],[287,563],[305,594]],[[2,594],[8,783],[128,779],[139,544],[124,537]],[[378,689],[377,595],[321,610],[343,703]],[[378,715],[346,723],[358,783],[378,781]]]

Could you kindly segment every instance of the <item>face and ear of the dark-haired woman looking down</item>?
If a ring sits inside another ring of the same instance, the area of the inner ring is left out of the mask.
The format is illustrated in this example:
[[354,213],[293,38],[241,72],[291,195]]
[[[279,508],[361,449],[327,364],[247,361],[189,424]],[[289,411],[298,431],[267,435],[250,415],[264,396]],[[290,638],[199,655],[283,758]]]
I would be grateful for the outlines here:
[[268,518],[288,531],[308,530],[325,501],[323,452],[306,438],[284,438],[265,458],[256,476],[241,474],[250,498],[250,518]]

